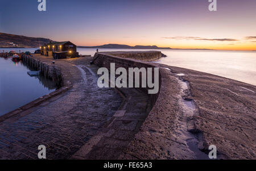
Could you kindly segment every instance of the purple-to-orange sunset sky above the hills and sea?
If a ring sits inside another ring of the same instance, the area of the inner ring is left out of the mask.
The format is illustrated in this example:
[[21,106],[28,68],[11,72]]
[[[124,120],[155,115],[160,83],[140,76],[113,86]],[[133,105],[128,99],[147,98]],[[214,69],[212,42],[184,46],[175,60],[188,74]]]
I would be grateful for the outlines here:
[[256,50],[256,1],[217,0],[1,0],[0,32],[69,40],[171,48]]

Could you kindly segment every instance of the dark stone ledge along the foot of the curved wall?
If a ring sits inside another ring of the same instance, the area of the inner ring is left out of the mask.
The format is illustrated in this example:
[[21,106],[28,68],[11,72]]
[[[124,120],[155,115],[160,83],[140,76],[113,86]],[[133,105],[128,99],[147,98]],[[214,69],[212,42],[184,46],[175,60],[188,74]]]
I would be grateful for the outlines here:
[[[86,73],[94,74],[96,68],[78,65]],[[93,72],[94,70],[94,72]],[[89,80],[94,82],[95,80]],[[71,159],[119,159],[134,135],[141,128],[142,123],[151,109],[148,96],[141,91],[122,88],[125,99],[115,114],[101,127],[97,134],[92,136]],[[108,105],[102,104],[102,105]]]

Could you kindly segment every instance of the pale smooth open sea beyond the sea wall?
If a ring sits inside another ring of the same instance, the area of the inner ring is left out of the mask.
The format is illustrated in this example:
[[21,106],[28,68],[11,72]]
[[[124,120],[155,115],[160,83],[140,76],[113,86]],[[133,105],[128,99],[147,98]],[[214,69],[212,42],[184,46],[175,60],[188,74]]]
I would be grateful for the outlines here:
[[[94,55],[96,49],[78,48],[82,55]],[[148,51],[148,49],[99,49],[99,51]],[[167,57],[156,62],[198,70],[256,85],[256,52],[159,50]]]

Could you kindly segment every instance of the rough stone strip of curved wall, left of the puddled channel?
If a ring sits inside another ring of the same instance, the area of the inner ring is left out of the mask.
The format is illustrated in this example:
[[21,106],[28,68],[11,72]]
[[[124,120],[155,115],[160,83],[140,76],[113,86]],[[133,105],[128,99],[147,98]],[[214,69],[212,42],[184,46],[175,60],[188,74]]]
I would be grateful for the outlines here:
[[[96,53],[94,64],[108,69],[112,62],[115,66],[126,69],[129,67],[159,68],[159,91],[157,94],[147,94],[151,102],[151,110],[139,132],[134,135],[119,159],[192,159],[190,157],[192,154],[187,152],[187,146],[180,145],[184,144],[183,141],[180,144],[174,144],[180,141],[178,137],[174,139],[174,130],[177,129],[176,123],[178,123],[176,119],[182,113],[179,80],[170,75],[170,69],[159,67],[158,64],[114,56],[117,54],[113,55],[113,52],[110,54],[108,52]],[[141,90],[147,93],[147,88],[141,88]]]

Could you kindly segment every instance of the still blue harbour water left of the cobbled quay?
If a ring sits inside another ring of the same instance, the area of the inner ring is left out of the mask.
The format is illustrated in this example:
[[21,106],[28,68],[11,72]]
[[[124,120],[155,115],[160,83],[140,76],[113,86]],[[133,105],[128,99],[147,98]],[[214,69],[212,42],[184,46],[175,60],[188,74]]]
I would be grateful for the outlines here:
[[56,89],[52,81],[30,77],[28,71],[22,62],[0,57],[0,116]]

